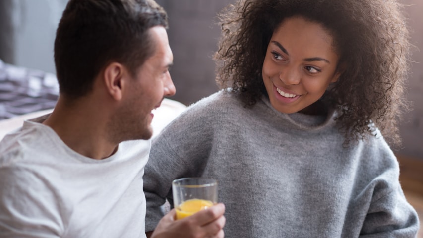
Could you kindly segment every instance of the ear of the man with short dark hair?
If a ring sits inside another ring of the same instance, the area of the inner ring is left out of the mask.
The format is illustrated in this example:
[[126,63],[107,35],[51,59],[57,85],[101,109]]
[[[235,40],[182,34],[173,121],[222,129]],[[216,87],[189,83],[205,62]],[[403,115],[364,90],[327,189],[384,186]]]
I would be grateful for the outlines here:
[[121,100],[122,90],[125,86],[125,67],[117,62],[112,62],[103,71],[103,80],[107,92],[115,100]]

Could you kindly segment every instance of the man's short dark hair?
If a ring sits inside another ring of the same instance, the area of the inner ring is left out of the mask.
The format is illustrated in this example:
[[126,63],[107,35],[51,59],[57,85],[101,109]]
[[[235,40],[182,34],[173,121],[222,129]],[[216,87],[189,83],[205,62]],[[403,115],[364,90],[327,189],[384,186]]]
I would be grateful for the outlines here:
[[70,0],[55,40],[60,93],[77,98],[111,62],[132,75],[153,53],[148,29],[168,27],[165,10],[153,0]]

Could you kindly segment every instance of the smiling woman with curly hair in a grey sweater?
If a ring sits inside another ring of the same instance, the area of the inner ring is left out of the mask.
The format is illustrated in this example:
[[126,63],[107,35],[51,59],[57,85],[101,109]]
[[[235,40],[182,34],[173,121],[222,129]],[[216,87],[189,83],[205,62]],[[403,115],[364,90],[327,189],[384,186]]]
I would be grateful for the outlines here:
[[[222,14],[222,89],[153,142],[146,230],[171,182],[219,180],[227,237],[414,237],[390,149],[410,44],[394,0],[240,0]],[[386,141],[385,141],[386,139]]]

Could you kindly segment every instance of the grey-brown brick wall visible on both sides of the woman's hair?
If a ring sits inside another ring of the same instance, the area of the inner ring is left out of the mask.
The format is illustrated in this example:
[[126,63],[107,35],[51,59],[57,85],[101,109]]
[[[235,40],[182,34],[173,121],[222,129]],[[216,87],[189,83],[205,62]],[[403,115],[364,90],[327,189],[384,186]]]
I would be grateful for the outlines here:
[[[169,39],[174,53],[171,75],[177,87],[173,99],[191,104],[217,91],[212,54],[220,28],[216,13],[235,0],[157,0],[170,18]],[[407,0],[413,43],[423,49],[423,1]],[[413,55],[407,97],[414,104],[401,125],[404,145],[398,153],[423,159],[423,53]]]

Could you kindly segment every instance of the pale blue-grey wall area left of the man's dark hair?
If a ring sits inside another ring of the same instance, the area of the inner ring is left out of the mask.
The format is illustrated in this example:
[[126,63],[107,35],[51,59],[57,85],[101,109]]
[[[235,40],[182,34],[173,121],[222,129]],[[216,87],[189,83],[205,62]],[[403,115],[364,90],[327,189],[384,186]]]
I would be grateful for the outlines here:
[[[55,73],[53,46],[56,28],[67,0],[1,0],[2,42],[13,50],[0,56],[7,63]],[[4,46],[4,45],[3,45]],[[7,46],[6,48],[9,48]]]

